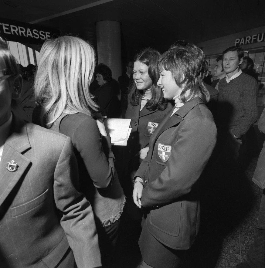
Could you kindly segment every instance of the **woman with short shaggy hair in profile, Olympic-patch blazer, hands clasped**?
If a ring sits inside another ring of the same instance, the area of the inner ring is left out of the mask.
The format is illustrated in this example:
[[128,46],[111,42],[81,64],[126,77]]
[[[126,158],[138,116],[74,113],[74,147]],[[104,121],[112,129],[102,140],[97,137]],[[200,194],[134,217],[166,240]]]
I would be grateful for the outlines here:
[[135,174],[134,203],[144,208],[139,246],[143,267],[179,267],[199,230],[198,179],[216,143],[216,126],[205,103],[204,53],[175,43],[159,59],[165,99],[175,107],[150,138],[149,152]]

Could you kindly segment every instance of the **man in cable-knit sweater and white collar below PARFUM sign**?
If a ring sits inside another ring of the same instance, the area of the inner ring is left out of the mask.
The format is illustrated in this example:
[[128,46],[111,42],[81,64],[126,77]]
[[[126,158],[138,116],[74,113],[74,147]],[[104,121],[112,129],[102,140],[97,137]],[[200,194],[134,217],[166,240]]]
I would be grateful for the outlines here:
[[237,159],[242,136],[257,120],[257,81],[239,69],[244,52],[241,47],[229,47],[223,52],[226,77],[219,82],[219,126],[228,130],[228,142]]

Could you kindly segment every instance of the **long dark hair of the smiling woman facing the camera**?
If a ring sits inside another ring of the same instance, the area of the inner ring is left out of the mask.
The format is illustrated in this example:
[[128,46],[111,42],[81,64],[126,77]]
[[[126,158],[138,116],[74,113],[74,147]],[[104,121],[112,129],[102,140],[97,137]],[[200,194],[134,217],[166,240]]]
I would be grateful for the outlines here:
[[[151,84],[151,93],[152,97],[148,102],[146,103],[146,108],[150,111],[154,110],[165,110],[167,107],[167,100],[163,98],[163,93],[156,84],[159,79],[159,72],[157,69],[157,63],[158,59],[160,57],[160,53],[152,49],[150,47],[146,47],[144,50],[142,50],[140,53],[135,55],[134,62],[140,61],[141,63],[148,66],[148,75],[152,80]],[[133,82],[129,86],[129,93],[128,93],[128,101],[131,105],[138,105],[139,104],[139,98],[141,98],[144,95],[143,90],[138,90],[136,87],[136,84]]]

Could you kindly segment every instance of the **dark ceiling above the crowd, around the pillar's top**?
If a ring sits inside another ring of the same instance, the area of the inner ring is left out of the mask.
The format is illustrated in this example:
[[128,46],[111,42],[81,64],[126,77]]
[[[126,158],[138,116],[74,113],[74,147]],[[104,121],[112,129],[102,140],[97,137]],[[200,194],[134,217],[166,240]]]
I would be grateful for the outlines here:
[[96,46],[95,22],[121,22],[126,56],[151,46],[161,52],[178,39],[203,42],[265,25],[264,0],[10,0],[0,17],[60,29]]

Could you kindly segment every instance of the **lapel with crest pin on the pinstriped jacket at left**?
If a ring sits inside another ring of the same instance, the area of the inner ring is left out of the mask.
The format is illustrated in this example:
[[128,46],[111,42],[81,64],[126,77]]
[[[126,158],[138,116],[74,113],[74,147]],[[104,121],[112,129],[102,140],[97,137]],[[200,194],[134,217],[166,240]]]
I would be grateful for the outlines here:
[[[12,124],[14,127],[12,127],[11,135],[5,142],[0,162],[0,206],[31,163],[28,158],[22,155],[22,152],[31,148],[25,124],[16,118],[13,119]],[[13,172],[7,169],[8,162],[12,160],[18,165],[17,170]]]

